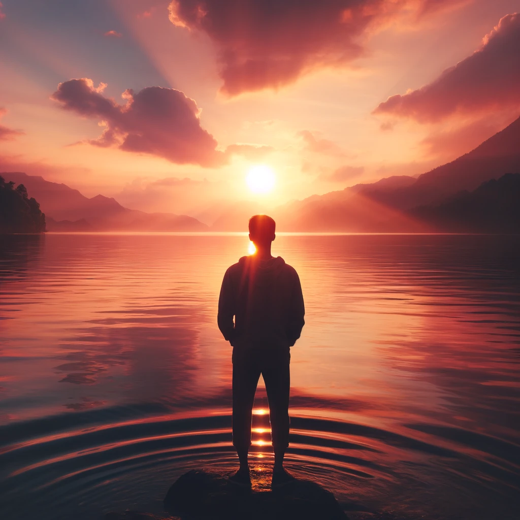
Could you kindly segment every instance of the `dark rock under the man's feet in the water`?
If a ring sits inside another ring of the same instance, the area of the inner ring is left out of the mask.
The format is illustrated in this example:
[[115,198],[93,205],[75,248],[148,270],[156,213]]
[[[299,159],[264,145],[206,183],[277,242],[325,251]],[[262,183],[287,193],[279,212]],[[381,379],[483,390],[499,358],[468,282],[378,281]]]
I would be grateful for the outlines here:
[[334,495],[310,480],[276,491],[249,491],[218,473],[196,470],[171,486],[164,509],[190,520],[347,520]]

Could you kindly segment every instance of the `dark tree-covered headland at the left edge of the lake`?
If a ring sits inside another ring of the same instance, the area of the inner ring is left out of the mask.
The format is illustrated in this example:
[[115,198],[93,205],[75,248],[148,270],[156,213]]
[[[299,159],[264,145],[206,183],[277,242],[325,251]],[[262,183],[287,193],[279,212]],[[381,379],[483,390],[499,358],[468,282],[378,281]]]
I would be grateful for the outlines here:
[[29,198],[23,184],[0,176],[0,233],[41,233],[45,231],[45,215],[34,197]]

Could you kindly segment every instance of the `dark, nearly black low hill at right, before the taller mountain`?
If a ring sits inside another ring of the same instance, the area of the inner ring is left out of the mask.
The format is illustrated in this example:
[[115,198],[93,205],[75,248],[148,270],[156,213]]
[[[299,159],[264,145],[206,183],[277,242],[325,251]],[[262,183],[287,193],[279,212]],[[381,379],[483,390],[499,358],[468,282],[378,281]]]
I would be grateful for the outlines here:
[[520,232],[520,173],[491,179],[436,206],[411,210],[437,230],[450,232]]

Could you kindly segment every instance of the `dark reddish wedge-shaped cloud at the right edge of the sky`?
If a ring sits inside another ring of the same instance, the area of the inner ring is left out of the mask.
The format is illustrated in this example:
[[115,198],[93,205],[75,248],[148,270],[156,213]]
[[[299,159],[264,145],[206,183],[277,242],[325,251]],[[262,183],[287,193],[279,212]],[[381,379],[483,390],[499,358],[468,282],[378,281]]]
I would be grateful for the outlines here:
[[456,113],[475,114],[520,107],[520,15],[504,16],[471,56],[435,81],[405,95],[389,97],[375,114],[421,123]]

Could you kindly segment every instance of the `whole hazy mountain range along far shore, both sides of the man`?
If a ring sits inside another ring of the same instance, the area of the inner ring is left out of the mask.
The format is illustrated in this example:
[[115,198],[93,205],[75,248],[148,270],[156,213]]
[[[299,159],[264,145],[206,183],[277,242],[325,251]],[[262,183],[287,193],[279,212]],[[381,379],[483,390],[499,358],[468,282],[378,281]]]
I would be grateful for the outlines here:
[[[471,152],[417,178],[387,177],[292,201],[270,213],[280,231],[517,232],[519,173],[520,118]],[[51,231],[243,231],[248,218],[261,211],[245,201],[221,212],[212,208],[210,213],[220,216],[210,228],[187,215],[129,210],[102,195],[89,199],[42,177],[0,175],[27,188]]]

